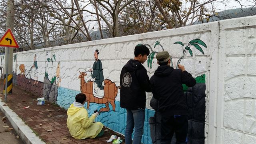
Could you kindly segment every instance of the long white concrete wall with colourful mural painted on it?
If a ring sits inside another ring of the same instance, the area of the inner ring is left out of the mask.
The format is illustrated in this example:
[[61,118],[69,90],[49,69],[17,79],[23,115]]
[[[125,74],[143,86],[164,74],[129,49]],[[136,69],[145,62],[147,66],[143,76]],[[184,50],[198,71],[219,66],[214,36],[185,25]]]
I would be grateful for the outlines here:
[[[97,120],[124,134],[126,110],[120,108],[118,86],[120,70],[134,57],[134,47],[148,44],[159,52],[162,45],[172,55],[176,67],[184,47],[194,39],[205,43],[206,46],[199,44],[203,52],[190,44],[192,56],[186,52],[180,62],[198,83],[194,88],[184,86],[190,108],[189,143],[253,144],[256,141],[256,16],[15,53],[14,83],[66,109],[82,91],[92,96],[90,103],[85,104],[88,112],[101,109]],[[183,47],[174,44],[179,41]],[[155,44],[158,45],[154,48]],[[100,52],[98,58],[106,83],[101,99],[94,97],[92,82],[84,83],[78,78],[80,72],[92,68],[96,49]],[[144,66],[152,76],[158,66],[155,56],[152,68],[147,62]],[[144,144],[152,143],[151,98],[152,94],[148,93]]]

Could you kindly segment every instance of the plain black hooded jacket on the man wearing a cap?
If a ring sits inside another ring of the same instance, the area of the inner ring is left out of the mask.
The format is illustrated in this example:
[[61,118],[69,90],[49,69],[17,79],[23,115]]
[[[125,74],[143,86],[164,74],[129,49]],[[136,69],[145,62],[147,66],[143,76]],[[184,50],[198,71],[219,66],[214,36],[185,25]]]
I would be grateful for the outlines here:
[[187,115],[186,97],[182,84],[191,87],[196,80],[187,71],[170,66],[158,66],[154,75],[150,78],[153,97],[158,100],[159,111],[164,116]]

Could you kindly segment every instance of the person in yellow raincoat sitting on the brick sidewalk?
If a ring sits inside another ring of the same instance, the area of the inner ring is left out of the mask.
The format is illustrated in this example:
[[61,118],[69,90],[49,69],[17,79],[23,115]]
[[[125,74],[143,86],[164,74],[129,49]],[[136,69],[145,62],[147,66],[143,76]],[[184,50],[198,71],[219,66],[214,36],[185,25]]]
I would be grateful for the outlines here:
[[77,94],[76,101],[68,108],[67,125],[71,136],[77,140],[85,138],[95,138],[103,135],[103,124],[101,122],[94,122],[98,116],[98,112],[88,117],[88,112],[84,108],[86,101],[85,94]]

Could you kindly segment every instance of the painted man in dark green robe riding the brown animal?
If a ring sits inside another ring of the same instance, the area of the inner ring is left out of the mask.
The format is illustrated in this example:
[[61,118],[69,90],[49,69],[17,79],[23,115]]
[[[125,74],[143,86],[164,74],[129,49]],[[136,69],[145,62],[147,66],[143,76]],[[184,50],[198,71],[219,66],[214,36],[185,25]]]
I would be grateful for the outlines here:
[[99,55],[99,51],[95,50],[94,51],[94,59],[95,62],[93,63],[92,68],[90,69],[90,71],[92,72],[92,78],[95,79],[93,80],[95,82],[95,84],[97,84],[96,86],[94,85],[94,93],[97,94],[98,90],[103,90],[104,89],[104,76],[103,76],[103,68],[102,68],[102,63],[101,61],[98,59],[98,55]]

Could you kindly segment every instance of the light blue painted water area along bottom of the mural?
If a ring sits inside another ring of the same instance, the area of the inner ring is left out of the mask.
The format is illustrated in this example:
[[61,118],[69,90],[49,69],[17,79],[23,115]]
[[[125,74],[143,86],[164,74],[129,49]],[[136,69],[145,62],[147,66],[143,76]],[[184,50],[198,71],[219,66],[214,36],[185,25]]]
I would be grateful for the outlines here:
[[[76,94],[79,93],[80,91],[59,87],[57,104],[62,108],[68,109],[70,104],[74,102]],[[112,106],[109,105],[110,110],[108,112],[102,112],[96,118],[96,121],[102,122],[104,126],[124,135],[126,126],[126,109],[121,108],[120,102],[118,101],[115,101],[115,104],[115,112],[113,111]],[[90,103],[90,108],[87,111],[89,115],[91,115],[94,113],[94,110],[100,110],[102,107],[105,107],[105,104]],[[85,108],[87,108],[87,103],[85,103]],[[144,135],[142,136],[143,144],[152,144],[148,120],[151,116],[154,116],[154,112],[154,110],[145,109]]]

